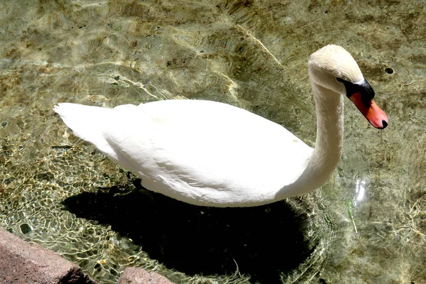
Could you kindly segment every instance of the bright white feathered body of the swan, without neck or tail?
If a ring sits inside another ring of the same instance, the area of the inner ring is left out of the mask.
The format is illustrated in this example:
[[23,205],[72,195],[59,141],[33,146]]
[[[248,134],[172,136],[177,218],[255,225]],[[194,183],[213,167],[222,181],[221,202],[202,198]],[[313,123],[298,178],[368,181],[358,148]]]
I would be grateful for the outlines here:
[[283,126],[218,102],[128,104],[103,121],[110,158],[149,190],[192,204],[273,199],[312,153]]

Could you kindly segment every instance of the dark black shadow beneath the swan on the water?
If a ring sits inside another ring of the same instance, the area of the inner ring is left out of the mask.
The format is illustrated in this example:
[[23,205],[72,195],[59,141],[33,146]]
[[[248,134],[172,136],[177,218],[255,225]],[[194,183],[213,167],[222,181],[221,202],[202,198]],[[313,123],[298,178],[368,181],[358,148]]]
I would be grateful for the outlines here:
[[[199,207],[145,190],[119,187],[68,197],[65,209],[128,236],[153,259],[188,275],[250,275],[280,283],[312,253],[307,214],[285,201],[259,207]],[[315,248],[314,248],[315,249]]]

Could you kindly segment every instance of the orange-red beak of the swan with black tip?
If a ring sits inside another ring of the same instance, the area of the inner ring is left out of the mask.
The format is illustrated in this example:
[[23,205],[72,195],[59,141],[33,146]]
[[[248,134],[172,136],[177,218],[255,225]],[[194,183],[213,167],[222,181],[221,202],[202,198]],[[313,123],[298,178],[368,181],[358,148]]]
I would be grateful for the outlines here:
[[351,94],[349,99],[356,105],[356,107],[364,114],[368,122],[376,129],[385,129],[388,126],[388,116],[381,110],[380,107],[371,99],[368,106],[361,99],[361,92]]

